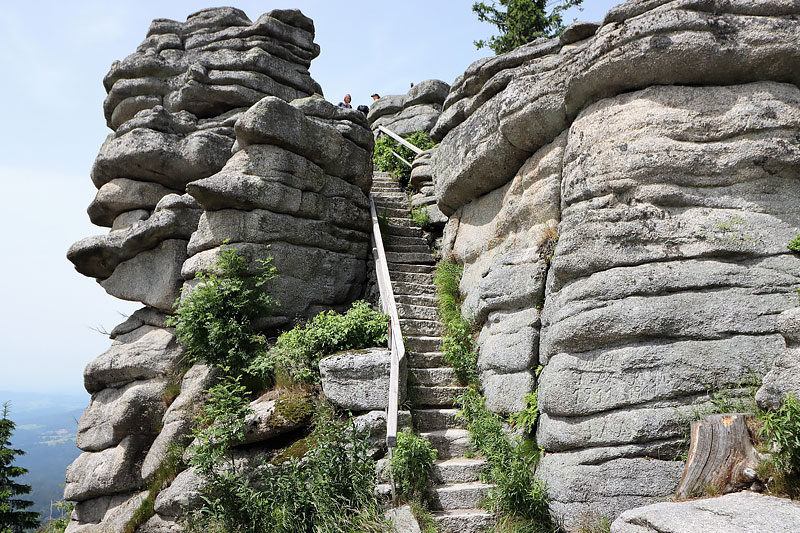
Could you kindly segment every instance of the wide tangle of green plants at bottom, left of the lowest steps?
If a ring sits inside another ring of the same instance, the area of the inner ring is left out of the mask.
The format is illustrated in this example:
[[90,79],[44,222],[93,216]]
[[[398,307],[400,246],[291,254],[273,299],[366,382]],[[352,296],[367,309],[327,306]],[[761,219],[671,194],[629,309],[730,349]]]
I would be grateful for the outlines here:
[[[315,419],[300,461],[228,469],[209,485],[190,530],[246,533],[379,532],[386,530],[374,493],[368,435],[330,411]],[[217,469],[219,470],[219,469]]]

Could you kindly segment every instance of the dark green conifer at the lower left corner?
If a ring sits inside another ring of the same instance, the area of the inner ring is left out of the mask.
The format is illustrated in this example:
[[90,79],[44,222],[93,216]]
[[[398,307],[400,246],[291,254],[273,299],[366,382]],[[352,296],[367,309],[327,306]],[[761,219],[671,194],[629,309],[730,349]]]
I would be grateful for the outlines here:
[[0,418],[0,533],[23,533],[39,526],[39,515],[25,510],[33,505],[32,501],[18,498],[30,494],[31,487],[14,481],[28,471],[14,466],[14,458],[25,452],[11,447],[15,424],[8,418],[8,405],[3,404]]

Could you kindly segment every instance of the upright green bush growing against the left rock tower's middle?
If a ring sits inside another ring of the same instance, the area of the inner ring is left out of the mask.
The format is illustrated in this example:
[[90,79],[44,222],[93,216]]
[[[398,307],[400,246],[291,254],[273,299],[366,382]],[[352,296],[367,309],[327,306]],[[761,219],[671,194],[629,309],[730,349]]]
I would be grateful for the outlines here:
[[198,273],[201,283],[182,294],[167,325],[175,327],[193,361],[240,371],[264,345],[265,338],[254,331],[253,322],[268,316],[276,305],[264,291],[276,270],[267,259],[255,276],[246,274],[244,258],[223,245],[214,269]]

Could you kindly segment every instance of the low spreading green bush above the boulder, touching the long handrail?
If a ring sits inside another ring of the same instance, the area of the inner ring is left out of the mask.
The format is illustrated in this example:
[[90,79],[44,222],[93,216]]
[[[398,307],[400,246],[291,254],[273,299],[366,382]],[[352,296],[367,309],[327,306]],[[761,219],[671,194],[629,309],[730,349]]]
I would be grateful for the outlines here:
[[388,318],[358,301],[344,314],[323,311],[309,323],[286,331],[275,346],[259,356],[250,371],[271,381],[319,381],[319,360],[342,350],[356,350],[386,343]]

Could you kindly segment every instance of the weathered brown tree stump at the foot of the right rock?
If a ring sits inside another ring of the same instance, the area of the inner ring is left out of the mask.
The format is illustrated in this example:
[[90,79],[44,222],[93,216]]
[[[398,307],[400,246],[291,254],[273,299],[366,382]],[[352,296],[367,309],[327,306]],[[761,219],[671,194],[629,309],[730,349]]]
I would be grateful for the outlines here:
[[750,415],[706,415],[692,422],[691,445],[679,498],[726,494],[756,480],[760,457],[748,429]]

